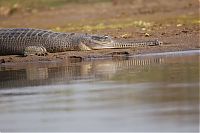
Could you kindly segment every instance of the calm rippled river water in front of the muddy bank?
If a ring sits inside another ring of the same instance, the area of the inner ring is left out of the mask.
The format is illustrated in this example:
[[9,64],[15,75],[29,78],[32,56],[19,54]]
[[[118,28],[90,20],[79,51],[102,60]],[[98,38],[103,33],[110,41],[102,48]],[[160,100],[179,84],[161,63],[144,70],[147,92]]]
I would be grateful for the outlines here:
[[0,131],[198,131],[199,51],[0,66]]

